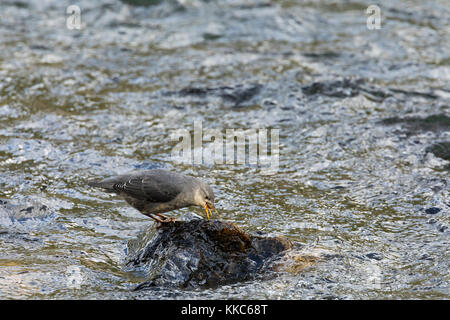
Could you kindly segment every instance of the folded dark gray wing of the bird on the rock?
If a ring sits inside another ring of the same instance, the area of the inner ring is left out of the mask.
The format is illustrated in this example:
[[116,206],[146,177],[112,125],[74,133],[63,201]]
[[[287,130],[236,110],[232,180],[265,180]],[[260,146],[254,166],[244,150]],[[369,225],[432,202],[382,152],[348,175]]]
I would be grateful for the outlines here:
[[180,194],[182,189],[181,177],[170,174],[130,175],[122,182],[114,184],[114,189],[137,199],[150,202],[169,202]]

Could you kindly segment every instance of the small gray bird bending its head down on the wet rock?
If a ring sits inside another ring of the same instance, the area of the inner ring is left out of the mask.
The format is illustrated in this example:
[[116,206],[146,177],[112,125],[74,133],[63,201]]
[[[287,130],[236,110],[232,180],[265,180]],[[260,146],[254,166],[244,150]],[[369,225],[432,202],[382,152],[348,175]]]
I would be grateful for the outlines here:
[[166,170],[133,171],[100,181],[91,187],[116,193],[133,208],[159,223],[174,221],[161,213],[189,206],[201,206],[209,219],[214,211],[214,192],[203,181]]

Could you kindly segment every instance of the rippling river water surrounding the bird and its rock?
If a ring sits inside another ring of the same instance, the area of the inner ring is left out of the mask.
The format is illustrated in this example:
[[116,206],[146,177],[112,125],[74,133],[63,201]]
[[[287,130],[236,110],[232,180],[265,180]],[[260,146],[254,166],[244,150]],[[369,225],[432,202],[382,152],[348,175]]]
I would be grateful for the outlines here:
[[[380,29],[369,5],[1,1],[0,298],[449,299],[449,2],[384,1]],[[194,123],[278,132],[275,170],[174,161]],[[130,241],[153,222],[86,183],[153,168],[207,181],[215,218],[328,258],[132,291]]]

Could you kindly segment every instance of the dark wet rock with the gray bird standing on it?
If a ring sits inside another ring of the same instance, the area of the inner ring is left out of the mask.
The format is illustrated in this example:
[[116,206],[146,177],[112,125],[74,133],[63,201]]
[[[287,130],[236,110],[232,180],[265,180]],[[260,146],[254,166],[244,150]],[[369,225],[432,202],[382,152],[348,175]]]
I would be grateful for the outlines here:
[[208,288],[269,275],[292,243],[281,237],[249,235],[219,220],[176,221],[154,231],[126,263],[154,287]]

